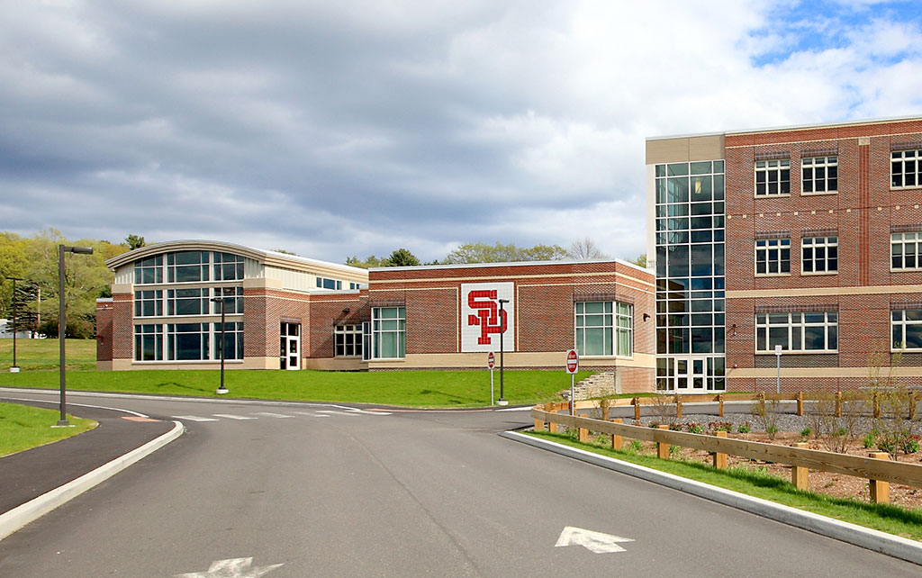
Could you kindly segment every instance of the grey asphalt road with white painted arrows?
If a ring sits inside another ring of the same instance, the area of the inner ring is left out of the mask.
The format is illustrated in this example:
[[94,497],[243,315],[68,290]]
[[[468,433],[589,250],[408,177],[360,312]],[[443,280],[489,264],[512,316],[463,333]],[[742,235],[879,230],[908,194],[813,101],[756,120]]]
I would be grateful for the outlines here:
[[[920,575],[496,435],[526,411],[69,398],[188,431],[0,541],[0,576]],[[632,541],[555,547],[567,526]]]

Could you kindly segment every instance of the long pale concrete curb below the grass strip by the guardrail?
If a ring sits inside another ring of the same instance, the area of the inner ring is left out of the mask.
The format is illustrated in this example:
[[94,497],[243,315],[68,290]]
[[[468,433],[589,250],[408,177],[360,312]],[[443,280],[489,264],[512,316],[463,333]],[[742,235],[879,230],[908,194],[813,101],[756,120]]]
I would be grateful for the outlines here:
[[922,543],[916,542],[916,540],[893,536],[892,534],[849,524],[817,513],[804,512],[797,508],[774,503],[774,501],[753,498],[733,490],[724,490],[703,482],[680,478],[649,467],[622,462],[605,455],[593,454],[561,443],[541,440],[516,431],[502,431],[500,436],[508,440],[548,450],[554,454],[561,454],[588,464],[621,472],[634,478],[641,478],[673,490],[680,490],[705,500],[716,501],[731,508],[754,513],[783,524],[793,525],[815,534],[832,537],[861,548],[881,552],[881,554],[886,554],[893,558],[922,564]]

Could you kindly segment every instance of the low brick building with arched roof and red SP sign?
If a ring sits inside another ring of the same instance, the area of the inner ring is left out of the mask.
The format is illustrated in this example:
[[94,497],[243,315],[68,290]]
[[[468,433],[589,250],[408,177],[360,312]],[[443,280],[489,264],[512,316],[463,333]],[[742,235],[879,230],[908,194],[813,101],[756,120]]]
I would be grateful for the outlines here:
[[100,369],[585,369],[654,385],[654,277],[623,261],[357,269],[221,242],[165,242],[110,260]]

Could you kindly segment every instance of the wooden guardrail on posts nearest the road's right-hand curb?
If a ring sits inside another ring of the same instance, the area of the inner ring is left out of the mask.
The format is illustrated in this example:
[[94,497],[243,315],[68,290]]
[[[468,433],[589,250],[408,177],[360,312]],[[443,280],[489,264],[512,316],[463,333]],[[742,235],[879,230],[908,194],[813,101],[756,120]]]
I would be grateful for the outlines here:
[[[546,410],[543,407],[533,407],[531,416],[535,419],[536,431],[543,431],[545,423],[551,425],[550,431],[557,431],[557,426],[559,425],[581,430],[581,437],[583,437],[582,430],[585,430],[586,434],[588,431],[597,431],[599,433],[611,435],[613,447],[616,447],[616,444],[620,446],[623,438],[630,438],[633,440],[656,442],[659,444],[659,454],[661,456],[663,455],[664,446],[666,446],[667,449],[665,455],[668,456],[669,445],[680,445],[682,447],[690,447],[696,450],[710,452],[715,454],[715,456],[721,454],[738,455],[739,457],[794,466],[792,471],[792,482],[800,489],[807,489],[807,470],[810,469],[844,474],[845,476],[854,476],[857,478],[866,478],[871,483],[871,488],[876,490],[872,492],[871,498],[877,501],[886,501],[889,494],[889,491],[885,490],[884,487],[881,486],[881,483],[894,483],[922,488],[922,466],[892,462],[889,459],[881,458],[881,455],[885,454],[875,454],[872,457],[860,457],[857,455],[834,454],[833,452],[822,452],[821,450],[789,447],[774,443],[747,442],[744,440],[734,440],[703,433],[652,429],[643,426],[617,423],[615,421],[558,414],[553,411],[553,409]],[[668,426],[661,427],[665,428]],[[715,464],[716,462],[717,460],[715,459]],[[726,460],[724,464],[726,464]]]

